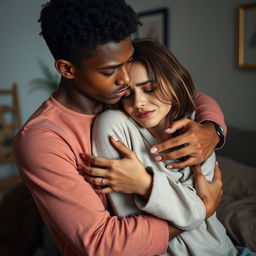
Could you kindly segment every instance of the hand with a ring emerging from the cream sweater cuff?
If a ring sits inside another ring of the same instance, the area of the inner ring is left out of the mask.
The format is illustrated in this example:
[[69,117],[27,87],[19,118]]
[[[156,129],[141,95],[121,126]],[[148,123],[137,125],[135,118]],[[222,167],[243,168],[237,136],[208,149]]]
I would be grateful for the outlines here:
[[79,171],[85,179],[93,184],[102,186],[95,190],[99,193],[123,192],[138,194],[147,199],[152,189],[152,177],[133,151],[121,141],[111,138],[112,145],[124,156],[122,159],[106,159],[83,154],[82,158],[92,166],[81,165]]

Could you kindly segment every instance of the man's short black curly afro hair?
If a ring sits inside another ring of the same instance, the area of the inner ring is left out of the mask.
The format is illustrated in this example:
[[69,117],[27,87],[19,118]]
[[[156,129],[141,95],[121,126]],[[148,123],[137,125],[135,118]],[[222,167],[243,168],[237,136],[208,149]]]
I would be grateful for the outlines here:
[[120,42],[140,24],[124,0],[50,0],[38,21],[53,57],[73,62],[90,57],[98,45]]

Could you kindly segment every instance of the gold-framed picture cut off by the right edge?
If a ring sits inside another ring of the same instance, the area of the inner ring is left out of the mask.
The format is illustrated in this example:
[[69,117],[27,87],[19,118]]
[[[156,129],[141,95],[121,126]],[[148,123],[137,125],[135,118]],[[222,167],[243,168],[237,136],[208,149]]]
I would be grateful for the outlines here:
[[238,8],[238,67],[256,69],[256,3]]

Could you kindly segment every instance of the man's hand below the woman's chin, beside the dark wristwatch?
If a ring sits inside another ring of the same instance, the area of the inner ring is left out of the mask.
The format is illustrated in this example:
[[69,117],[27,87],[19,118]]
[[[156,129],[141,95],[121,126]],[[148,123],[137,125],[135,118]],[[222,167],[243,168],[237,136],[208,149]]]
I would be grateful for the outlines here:
[[187,118],[175,121],[165,132],[173,134],[181,129],[182,135],[172,137],[162,143],[153,146],[150,150],[152,154],[158,154],[167,149],[179,147],[168,153],[158,154],[156,161],[174,160],[185,157],[185,160],[171,163],[167,168],[184,168],[205,161],[215,149],[219,142],[219,137],[215,127],[211,122],[203,124],[197,123]]

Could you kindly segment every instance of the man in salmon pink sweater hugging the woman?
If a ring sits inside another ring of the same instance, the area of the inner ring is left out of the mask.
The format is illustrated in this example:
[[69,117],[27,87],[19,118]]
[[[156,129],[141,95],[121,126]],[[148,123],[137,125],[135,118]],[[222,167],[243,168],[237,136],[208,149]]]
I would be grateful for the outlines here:
[[[118,102],[129,86],[133,55],[130,35],[138,25],[135,12],[123,0],[52,0],[43,6],[39,21],[61,81],[17,134],[14,154],[54,240],[68,256],[164,253],[177,229],[146,214],[118,219],[108,198],[96,194],[78,171],[84,160],[81,153],[91,152],[90,130],[95,115],[104,109],[103,104]],[[205,103],[207,100],[207,96],[198,96],[197,104],[202,108],[198,121],[211,120],[225,126],[218,105],[212,99]],[[190,156],[177,165],[203,161],[219,142],[211,122],[172,125],[174,130],[180,127],[187,130],[180,142],[170,140],[158,145],[159,150],[187,145],[164,156]],[[132,155],[121,142],[113,144]],[[115,166],[118,163],[127,171],[138,167],[136,158],[126,160],[129,167],[123,160],[115,160]],[[114,163],[88,154],[86,161],[100,161],[107,168]],[[210,201],[213,212],[221,195],[219,172],[211,184],[200,170],[196,173],[199,196],[207,199],[203,199],[206,206]]]

